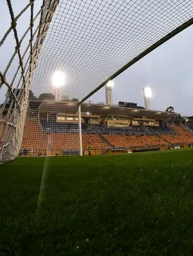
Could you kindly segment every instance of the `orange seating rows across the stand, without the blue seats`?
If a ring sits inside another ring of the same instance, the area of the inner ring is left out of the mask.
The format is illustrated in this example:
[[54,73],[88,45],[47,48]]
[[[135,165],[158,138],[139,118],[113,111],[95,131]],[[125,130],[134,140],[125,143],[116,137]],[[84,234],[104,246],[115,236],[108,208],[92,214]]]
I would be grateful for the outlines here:
[[[3,124],[0,126],[2,132]],[[59,127],[57,127],[58,129]],[[63,129],[64,127],[62,127]],[[68,126],[68,129],[71,128]],[[106,132],[109,133],[106,133]],[[112,132],[113,131],[113,132]],[[118,131],[118,133],[116,132]],[[125,131],[129,134],[125,134]],[[98,131],[95,131],[98,133]],[[113,134],[113,133],[116,134]],[[82,134],[82,148],[88,150],[89,142],[91,149],[110,148],[109,142],[112,146],[122,147],[147,147],[147,146],[159,146],[166,144],[177,143],[193,143],[193,135],[181,126],[170,126],[169,128],[129,128],[128,130],[105,130],[102,134],[104,139],[101,139],[96,133],[84,133]],[[136,132],[135,135],[130,132]],[[142,132],[142,134],[140,134]],[[161,133],[163,132],[163,133]],[[146,134],[144,134],[146,133]],[[149,135],[150,133],[150,135]],[[68,133],[67,130],[61,132],[46,132],[45,128],[42,128],[35,120],[26,120],[24,125],[23,143],[21,150],[28,150],[33,152],[59,152],[62,154],[63,150],[78,150],[79,149],[79,136],[78,133]],[[53,153],[54,154],[54,153]]]

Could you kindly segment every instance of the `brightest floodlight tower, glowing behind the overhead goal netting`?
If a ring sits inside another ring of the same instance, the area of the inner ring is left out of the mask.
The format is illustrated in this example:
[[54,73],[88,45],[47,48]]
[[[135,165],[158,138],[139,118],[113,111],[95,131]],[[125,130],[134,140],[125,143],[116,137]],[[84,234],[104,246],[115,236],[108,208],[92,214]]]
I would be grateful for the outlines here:
[[53,73],[52,83],[55,87],[55,101],[60,101],[60,88],[64,85],[65,74],[64,72],[56,71]]

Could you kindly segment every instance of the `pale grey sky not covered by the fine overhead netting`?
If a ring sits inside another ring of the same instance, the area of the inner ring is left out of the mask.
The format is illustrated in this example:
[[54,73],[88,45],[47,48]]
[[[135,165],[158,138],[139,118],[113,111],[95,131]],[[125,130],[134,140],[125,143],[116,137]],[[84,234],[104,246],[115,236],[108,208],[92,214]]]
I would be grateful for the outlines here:
[[[20,5],[26,3],[24,0],[17,1],[17,4],[16,0],[12,2],[16,13],[17,10],[21,10]],[[40,4],[41,0],[38,0],[37,5]],[[6,3],[1,3],[0,16],[4,21],[0,30],[2,37],[10,21]],[[28,19],[28,17],[24,16],[24,19]],[[20,24],[23,31],[26,24]],[[10,36],[8,42],[3,48],[0,48],[0,70],[3,70],[5,63],[10,59],[10,48],[13,46],[13,41],[14,38]],[[125,70],[124,73],[114,79],[113,103],[127,101],[144,105],[142,88],[146,83],[152,89],[150,101],[152,109],[165,110],[167,107],[173,106],[174,111],[181,113],[181,115],[193,115],[192,44],[193,26],[190,26]],[[17,61],[13,64],[13,69]],[[6,86],[3,86],[0,90],[0,103],[5,99],[5,92]],[[102,88],[96,92],[89,100],[92,103],[105,103],[105,89]]]

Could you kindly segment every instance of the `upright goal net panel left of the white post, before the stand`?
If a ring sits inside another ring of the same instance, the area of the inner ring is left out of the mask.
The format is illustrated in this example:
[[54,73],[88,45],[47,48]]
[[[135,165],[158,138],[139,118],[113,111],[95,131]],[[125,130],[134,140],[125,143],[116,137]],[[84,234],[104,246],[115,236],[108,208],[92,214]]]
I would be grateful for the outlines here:
[[31,101],[20,155],[79,155],[78,106]]

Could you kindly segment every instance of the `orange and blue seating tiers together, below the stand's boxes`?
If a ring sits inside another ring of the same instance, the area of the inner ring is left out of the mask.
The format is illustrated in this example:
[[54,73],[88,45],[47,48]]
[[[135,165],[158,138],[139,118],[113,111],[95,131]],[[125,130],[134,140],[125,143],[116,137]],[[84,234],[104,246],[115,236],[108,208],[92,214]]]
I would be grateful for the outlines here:
[[[33,127],[33,133],[30,130]],[[62,155],[64,150],[79,150],[78,124],[49,123],[26,120],[21,151],[33,155]],[[1,125],[1,130],[3,126]],[[133,148],[193,143],[193,134],[181,126],[151,127],[128,126],[107,128],[94,125],[83,126],[82,148],[88,150],[110,148]],[[69,152],[65,153],[69,154]]]

